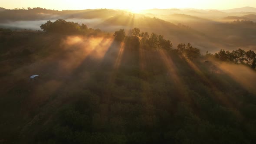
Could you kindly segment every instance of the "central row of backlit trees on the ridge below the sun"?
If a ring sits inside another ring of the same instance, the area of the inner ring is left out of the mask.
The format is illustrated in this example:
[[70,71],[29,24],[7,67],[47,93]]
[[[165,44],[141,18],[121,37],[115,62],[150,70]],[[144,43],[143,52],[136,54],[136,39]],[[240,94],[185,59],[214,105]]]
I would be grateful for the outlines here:
[[200,56],[200,50],[191,46],[190,43],[187,45],[180,43],[177,49],[173,49],[173,45],[170,40],[164,39],[164,36],[158,35],[156,33],[140,32],[140,29],[134,28],[131,30],[131,34],[126,35],[124,29],[116,31],[115,34],[116,41],[124,41],[125,46],[130,49],[151,49],[159,50],[164,49],[167,52],[177,52],[190,60],[194,60]]

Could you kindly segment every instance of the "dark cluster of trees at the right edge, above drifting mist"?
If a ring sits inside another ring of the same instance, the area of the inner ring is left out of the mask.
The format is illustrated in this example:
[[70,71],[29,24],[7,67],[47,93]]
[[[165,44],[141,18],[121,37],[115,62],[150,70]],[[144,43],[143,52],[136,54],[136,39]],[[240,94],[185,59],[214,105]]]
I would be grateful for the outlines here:
[[225,51],[224,49],[220,49],[220,51],[214,55],[207,51],[206,56],[211,56],[224,62],[249,65],[253,69],[256,67],[256,53],[252,50],[246,52],[243,49],[237,49],[230,52],[229,50]]

